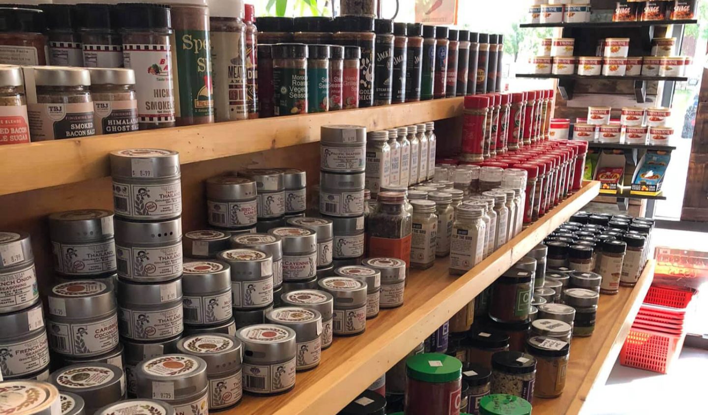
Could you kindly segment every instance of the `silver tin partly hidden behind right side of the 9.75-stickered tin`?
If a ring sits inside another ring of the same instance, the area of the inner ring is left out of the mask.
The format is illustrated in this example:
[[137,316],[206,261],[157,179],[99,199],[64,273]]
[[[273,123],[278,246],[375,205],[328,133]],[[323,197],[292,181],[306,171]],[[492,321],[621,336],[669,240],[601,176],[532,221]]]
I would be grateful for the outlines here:
[[177,343],[180,353],[198,356],[207,363],[210,410],[232,407],[241,400],[242,349],[240,341],[225,334],[189,336]]

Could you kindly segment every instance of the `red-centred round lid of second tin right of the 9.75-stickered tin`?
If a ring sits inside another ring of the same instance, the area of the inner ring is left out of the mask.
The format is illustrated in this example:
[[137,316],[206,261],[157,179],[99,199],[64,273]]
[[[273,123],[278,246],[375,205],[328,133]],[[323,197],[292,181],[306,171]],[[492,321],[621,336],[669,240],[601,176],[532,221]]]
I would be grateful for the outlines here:
[[236,331],[236,339],[244,343],[246,360],[253,363],[283,361],[295,358],[295,330],[280,324],[255,324]]

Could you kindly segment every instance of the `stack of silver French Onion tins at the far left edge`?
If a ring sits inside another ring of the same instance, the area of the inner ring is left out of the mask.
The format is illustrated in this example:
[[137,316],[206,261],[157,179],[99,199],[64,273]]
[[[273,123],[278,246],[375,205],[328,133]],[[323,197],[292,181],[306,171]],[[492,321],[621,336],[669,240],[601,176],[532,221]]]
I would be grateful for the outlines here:
[[49,346],[30,235],[0,232],[0,373],[47,380]]

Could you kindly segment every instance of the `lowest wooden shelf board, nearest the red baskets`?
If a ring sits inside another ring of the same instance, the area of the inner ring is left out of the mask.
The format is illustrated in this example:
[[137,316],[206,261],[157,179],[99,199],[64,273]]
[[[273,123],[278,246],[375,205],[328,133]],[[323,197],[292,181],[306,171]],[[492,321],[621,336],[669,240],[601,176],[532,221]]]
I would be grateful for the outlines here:
[[566,371],[566,387],[557,398],[534,398],[534,414],[578,414],[583,403],[605,385],[619,356],[624,339],[639,311],[651,280],[656,261],[646,262],[633,288],[620,287],[617,295],[600,295],[595,332],[590,337],[573,337]]

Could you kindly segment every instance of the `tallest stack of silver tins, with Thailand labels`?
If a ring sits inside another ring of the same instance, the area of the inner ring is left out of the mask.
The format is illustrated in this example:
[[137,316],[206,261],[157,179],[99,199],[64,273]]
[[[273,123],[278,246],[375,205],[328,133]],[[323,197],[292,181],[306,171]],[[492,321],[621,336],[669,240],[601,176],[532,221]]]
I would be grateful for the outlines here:
[[179,156],[164,149],[110,153],[118,268],[118,331],[127,394],[139,362],[174,351],[183,333]]

